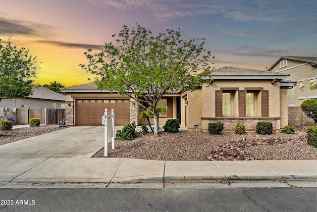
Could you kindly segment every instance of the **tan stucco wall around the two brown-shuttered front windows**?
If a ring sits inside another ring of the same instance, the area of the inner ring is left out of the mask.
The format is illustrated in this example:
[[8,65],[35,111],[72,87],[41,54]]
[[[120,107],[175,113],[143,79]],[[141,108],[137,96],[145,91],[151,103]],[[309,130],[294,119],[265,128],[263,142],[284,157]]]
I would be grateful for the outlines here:
[[[239,90],[245,90],[245,88],[263,88],[263,90],[268,91],[268,104],[269,104],[269,117],[279,118],[281,107],[284,108],[287,104],[280,105],[280,101],[287,101],[285,91],[280,95],[279,83],[271,84],[270,81],[266,82],[213,82],[208,88],[204,85],[201,90],[196,90],[194,92],[188,92],[188,128],[193,129],[194,124],[199,124],[199,128],[203,130],[208,130],[208,123],[210,120],[202,120],[204,118],[214,118],[215,117],[215,91],[220,90],[220,88],[239,88]],[[256,108],[261,109],[261,94],[257,98]],[[238,117],[238,94],[236,93],[232,102],[232,115],[223,116],[222,118]],[[285,116],[286,115],[286,116]],[[256,115],[252,116],[261,117],[261,111],[256,112]],[[287,109],[286,113],[283,113],[282,123],[287,123]],[[276,120],[276,129],[280,129],[280,120]]]

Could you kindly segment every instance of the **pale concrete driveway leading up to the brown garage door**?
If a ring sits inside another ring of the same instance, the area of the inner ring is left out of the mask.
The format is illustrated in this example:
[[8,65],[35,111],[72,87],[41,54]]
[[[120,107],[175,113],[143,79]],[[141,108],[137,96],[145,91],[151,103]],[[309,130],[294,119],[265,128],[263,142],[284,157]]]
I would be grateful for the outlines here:
[[104,147],[104,127],[69,127],[0,146],[0,159],[90,158]]

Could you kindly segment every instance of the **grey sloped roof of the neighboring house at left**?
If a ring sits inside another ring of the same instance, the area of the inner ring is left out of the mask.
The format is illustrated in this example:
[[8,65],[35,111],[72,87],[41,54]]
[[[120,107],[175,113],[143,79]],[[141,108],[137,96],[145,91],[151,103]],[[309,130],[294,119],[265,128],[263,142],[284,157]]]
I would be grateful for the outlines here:
[[66,101],[65,95],[58,94],[50,89],[38,85],[33,85],[33,94],[27,98]]

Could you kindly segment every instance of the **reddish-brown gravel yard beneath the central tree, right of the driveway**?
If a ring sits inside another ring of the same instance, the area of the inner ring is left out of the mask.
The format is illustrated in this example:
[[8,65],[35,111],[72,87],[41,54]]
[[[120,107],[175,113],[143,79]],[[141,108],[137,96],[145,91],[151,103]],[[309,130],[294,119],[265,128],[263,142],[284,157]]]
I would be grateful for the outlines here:
[[[104,148],[93,158],[104,158]],[[306,128],[294,134],[271,135],[208,132],[137,133],[133,141],[115,141],[108,146],[107,158],[154,160],[305,160],[317,159],[317,148],[307,144]]]

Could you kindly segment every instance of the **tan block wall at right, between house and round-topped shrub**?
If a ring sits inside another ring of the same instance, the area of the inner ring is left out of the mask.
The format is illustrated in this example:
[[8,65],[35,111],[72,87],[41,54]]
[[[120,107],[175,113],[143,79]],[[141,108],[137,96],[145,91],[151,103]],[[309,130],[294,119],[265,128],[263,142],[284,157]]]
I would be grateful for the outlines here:
[[293,126],[314,126],[313,118],[305,115],[305,112],[300,106],[288,107],[288,125]]

